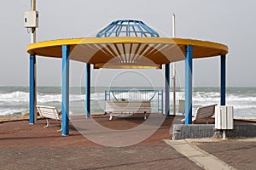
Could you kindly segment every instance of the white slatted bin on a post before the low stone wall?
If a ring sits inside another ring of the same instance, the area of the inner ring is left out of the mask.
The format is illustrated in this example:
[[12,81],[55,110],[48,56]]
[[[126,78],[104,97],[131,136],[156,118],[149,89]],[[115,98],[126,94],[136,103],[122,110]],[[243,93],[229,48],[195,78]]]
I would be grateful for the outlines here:
[[233,129],[233,106],[215,106],[215,128]]

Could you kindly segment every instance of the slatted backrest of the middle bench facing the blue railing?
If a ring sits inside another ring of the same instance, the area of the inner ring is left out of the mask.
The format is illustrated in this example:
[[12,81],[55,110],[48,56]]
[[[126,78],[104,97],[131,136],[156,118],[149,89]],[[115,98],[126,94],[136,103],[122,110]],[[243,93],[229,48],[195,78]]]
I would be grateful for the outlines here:
[[107,101],[105,111],[150,113],[150,101]]

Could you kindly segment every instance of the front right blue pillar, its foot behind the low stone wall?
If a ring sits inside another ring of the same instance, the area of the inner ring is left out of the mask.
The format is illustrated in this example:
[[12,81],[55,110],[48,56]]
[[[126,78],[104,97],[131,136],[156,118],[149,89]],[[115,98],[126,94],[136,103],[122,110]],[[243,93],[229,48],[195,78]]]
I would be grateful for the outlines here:
[[185,47],[185,124],[192,123],[192,65],[193,46]]

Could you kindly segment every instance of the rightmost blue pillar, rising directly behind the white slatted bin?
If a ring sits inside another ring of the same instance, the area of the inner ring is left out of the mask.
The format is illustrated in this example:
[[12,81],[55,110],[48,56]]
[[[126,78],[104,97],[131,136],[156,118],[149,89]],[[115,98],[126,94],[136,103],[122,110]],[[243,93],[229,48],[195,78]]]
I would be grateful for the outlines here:
[[226,55],[220,56],[220,105],[226,105]]

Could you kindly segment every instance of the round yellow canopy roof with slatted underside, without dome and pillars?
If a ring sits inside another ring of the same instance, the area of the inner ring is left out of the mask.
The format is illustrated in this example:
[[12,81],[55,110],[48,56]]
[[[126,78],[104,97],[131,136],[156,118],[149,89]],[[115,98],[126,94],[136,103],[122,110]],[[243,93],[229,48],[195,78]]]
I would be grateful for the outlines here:
[[90,63],[95,68],[160,68],[184,59],[184,48],[193,45],[193,58],[228,53],[217,42],[167,37],[84,37],[37,42],[27,47],[29,54],[61,58],[61,46],[70,46],[70,59]]

